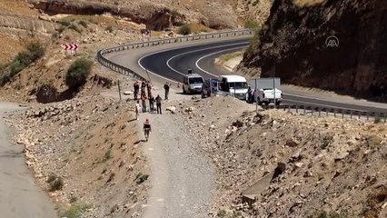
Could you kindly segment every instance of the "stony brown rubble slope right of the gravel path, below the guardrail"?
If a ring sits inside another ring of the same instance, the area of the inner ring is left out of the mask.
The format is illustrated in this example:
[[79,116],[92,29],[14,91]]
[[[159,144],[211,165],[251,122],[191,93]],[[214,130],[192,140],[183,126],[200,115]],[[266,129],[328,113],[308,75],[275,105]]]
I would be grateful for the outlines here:
[[[220,194],[213,214],[307,217],[337,212],[383,217],[387,213],[386,124],[343,123],[282,111],[256,114],[254,106],[220,96],[180,108],[187,131],[203,139],[203,150],[219,170]],[[278,163],[285,164],[285,171],[255,196],[255,203],[243,203],[243,191],[272,173]]]

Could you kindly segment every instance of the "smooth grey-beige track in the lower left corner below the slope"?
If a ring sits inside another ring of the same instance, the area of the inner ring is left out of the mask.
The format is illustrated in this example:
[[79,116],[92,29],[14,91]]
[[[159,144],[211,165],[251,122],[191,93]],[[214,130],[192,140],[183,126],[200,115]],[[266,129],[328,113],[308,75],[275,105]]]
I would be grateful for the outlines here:
[[0,103],[0,212],[7,218],[57,217],[53,203],[36,186],[25,164],[23,145],[10,144],[11,131],[3,118],[17,105]]

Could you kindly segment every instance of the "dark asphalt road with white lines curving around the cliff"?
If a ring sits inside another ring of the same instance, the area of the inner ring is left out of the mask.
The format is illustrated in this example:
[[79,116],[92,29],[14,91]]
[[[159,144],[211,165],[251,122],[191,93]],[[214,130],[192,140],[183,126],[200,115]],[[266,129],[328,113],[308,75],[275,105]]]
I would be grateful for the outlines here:
[[[214,64],[213,59],[222,54],[243,50],[249,43],[248,39],[233,39],[209,45],[193,45],[163,52],[146,54],[138,61],[145,69],[177,82],[182,82],[182,75],[187,69],[202,74],[204,78],[215,78],[221,74],[230,74]],[[283,103],[332,109],[355,110],[371,113],[387,113],[387,104],[343,103],[334,99],[321,99],[315,96],[283,94]]]

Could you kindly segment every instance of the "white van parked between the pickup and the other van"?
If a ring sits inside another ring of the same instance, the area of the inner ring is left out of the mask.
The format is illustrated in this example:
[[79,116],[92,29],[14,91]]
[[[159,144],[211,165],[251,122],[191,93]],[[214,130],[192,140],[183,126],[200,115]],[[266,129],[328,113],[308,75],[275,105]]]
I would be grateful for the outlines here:
[[246,78],[241,75],[222,75],[219,89],[223,94],[229,94],[238,99],[245,100],[248,85]]

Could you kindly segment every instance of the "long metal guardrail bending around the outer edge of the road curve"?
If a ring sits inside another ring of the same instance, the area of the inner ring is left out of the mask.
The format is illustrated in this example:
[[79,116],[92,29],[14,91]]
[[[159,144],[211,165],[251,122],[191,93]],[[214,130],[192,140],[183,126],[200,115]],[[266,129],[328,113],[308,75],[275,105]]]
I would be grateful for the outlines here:
[[106,48],[98,51],[96,60],[100,64],[103,64],[105,67],[119,74],[125,74],[140,80],[144,80],[143,76],[135,73],[133,70],[123,65],[115,64],[114,62],[109,61],[107,58],[104,57],[104,54],[111,54],[116,52],[122,52],[125,50],[144,48],[144,47],[150,47],[155,45],[184,43],[184,42],[197,41],[197,40],[203,40],[203,39],[225,38],[225,37],[241,36],[241,35],[253,35],[254,31],[255,31],[254,29],[232,30],[232,31],[224,31],[224,32],[216,32],[216,33],[206,33],[201,35],[185,35],[185,36],[180,36],[175,38],[165,38],[165,39],[159,39],[159,40],[148,41],[148,42],[138,42],[138,43],[133,43],[128,45],[119,45],[119,46]]

